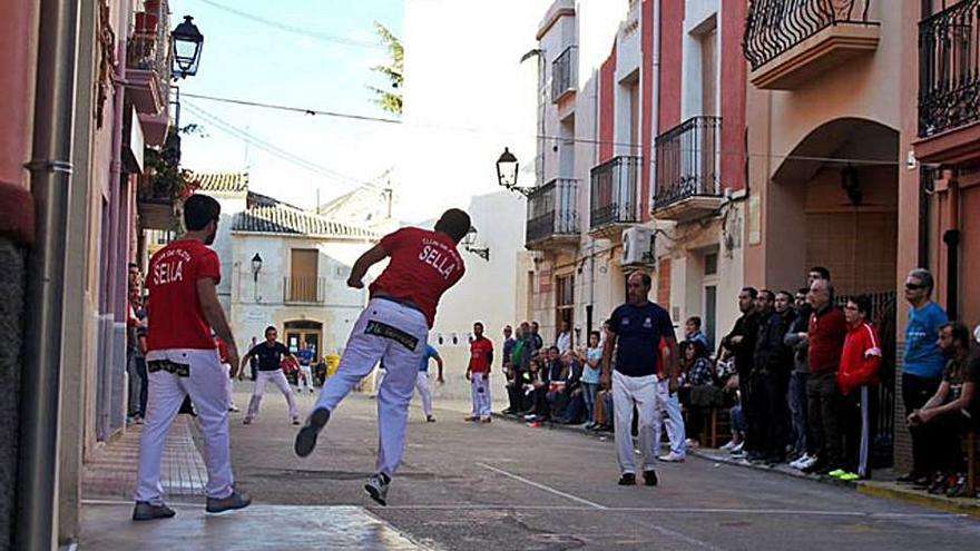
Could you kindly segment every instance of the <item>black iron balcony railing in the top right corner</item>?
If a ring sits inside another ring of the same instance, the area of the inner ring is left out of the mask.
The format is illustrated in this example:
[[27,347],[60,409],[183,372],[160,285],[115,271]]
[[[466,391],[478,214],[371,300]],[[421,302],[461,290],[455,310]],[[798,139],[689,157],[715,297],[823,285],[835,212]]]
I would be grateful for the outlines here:
[[919,137],[980,120],[980,0],[919,23]]

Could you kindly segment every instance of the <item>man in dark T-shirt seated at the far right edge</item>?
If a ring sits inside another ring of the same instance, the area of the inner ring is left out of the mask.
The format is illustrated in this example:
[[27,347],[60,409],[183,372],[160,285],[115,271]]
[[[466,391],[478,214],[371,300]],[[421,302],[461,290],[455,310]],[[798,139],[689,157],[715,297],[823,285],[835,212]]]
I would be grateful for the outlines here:
[[942,383],[925,404],[909,414],[908,422],[925,439],[927,468],[932,472],[929,493],[964,495],[966,462],[960,446],[964,432],[980,429],[980,357],[970,329],[959,322],[940,326],[939,348],[948,358]]

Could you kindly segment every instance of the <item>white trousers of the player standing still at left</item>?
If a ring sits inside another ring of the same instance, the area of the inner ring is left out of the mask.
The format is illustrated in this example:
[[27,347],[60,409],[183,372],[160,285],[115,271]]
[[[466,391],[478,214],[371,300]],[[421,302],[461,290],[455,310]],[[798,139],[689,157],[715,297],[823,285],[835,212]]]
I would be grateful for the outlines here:
[[139,437],[139,471],[137,473],[136,501],[163,503],[160,462],[170,425],[180,410],[186,395],[197,409],[197,421],[204,433],[204,461],[207,466],[208,498],[227,498],[232,494],[232,454],[228,433],[228,394],[225,381],[228,373],[218,362],[217,351],[167,350],[147,354],[149,363],[168,360],[189,366],[187,376],[167,371],[148,373],[149,400],[146,421]]

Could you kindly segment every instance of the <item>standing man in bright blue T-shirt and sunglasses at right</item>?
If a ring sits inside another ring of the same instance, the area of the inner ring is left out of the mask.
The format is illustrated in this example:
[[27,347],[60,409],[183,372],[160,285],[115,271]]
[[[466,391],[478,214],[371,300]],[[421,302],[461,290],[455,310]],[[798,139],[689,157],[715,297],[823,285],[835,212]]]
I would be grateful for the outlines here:
[[[942,382],[945,358],[939,350],[939,328],[949,317],[932,302],[933,286],[932,274],[924,268],[915,268],[905,277],[905,301],[912,306],[905,327],[905,358],[902,362],[905,415],[921,409]],[[917,426],[910,427],[909,433],[912,435],[912,471],[900,476],[899,482],[921,482],[932,474],[925,472],[930,435]]]

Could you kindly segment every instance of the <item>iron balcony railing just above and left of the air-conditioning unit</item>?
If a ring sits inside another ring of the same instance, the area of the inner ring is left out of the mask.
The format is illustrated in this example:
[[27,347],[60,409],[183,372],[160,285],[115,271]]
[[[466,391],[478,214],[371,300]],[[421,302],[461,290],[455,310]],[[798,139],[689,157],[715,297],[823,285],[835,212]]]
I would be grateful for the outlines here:
[[636,200],[639,165],[639,157],[623,156],[592,168],[589,196],[589,225],[592,229],[639,220]]

